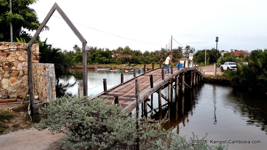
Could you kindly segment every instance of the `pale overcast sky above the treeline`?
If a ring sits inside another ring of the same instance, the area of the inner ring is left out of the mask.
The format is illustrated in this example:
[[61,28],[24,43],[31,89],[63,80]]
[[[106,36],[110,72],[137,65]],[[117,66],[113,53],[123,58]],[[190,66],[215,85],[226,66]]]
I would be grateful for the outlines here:
[[[168,46],[172,35],[182,46],[196,50],[216,48],[215,37],[219,37],[219,50],[267,48],[265,0],[39,0],[30,7],[42,22],[55,2],[87,40],[87,46],[154,51]],[[62,50],[72,50],[74,44],[82,46],[57,11],[47,25],[50,30],[41,32],[41,40],[48,38],[48,43]],[[180,46],[175,40],[173,48]]]

